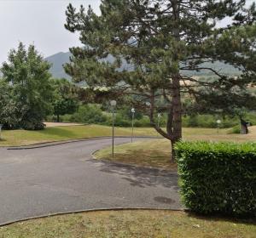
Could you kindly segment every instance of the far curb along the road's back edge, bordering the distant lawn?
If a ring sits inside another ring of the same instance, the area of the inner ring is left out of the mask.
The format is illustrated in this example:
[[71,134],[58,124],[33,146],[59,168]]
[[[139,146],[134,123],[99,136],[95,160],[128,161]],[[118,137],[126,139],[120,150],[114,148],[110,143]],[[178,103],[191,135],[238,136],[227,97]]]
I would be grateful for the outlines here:
[[[116,136],[115,138],[130,138],[129,136]],[[161,137],[154,137],[154,136],[137,136],[134,138],[145,138],[145,139],[162,139]],[[88,138],[81,138],[81,139],[68,139],[68,140],[61,140],[61,141],[50,141],[38,144],[28,144],[28,145],[20,145],[20,146],[1,146],[0,148],[5,148],[7,150],[32,150],[38,148],[44,148],[49,146],[55,146],[60,144],[69,144],[69,143],[76,143],[81,141],[87,140],[95,140],[95,139],[111,139],[110,136],[106,137],[88,137]]]

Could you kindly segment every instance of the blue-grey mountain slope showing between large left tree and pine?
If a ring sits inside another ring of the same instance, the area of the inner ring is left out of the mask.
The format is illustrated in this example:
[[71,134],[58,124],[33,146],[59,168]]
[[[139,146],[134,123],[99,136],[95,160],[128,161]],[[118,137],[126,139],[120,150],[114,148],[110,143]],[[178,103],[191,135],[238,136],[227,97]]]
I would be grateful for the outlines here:
[[57,54],[53,54],[45,60],[47,60],[52,66],[50,68],[50,73],[55,78],[67,78],[68,80],[71,80],[71,77],[66,74],[66,72],[63,69],[63,65],[69,62],[69,57],[71,56],[70,52],[64,53],[60,52]]

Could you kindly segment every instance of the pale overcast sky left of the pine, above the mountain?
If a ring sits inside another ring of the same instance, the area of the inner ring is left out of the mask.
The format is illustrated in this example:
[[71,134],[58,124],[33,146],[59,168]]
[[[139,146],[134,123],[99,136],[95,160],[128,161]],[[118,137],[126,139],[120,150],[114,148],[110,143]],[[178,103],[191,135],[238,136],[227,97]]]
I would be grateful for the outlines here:
[[44,56],[67,52],[79,38],[64,28],[68,3],[89,4],[99,12],[100,0],[0,0],[0,63],[19,42],[34,43]]

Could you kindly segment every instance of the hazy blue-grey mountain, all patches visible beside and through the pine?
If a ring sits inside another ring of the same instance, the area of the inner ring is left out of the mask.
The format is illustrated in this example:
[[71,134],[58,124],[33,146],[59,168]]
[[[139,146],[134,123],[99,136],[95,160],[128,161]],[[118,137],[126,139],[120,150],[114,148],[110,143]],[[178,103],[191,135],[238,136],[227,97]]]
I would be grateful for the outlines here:
[[[71,54],[69,52],[67,53],[57,53],[57,54],[53,54],[47,58],[45,58],[47,61],[49,61],[49,63],[52,64],[52,67],[50,69],[51,74],[53,75],[53,77],[55,78],[67,78],[67,79],[71,79],[71,77],[69,77],[62,65],[66,64],[67,62],[69,62],[69,57],[71,56]],[[108,59],[106,59],[109,62],[113,62],[113,56],[109,55]],[[224,73],[226,75],[237,75],[239,74],[239,71],[234,68],[232,65],[226,65],[222,62],[216,62],[214,64],[211,63],[206,63],[202,65],[203,67],[212,67],[214,70]],[[131,65],[127,65],[125,64],[125,62],[123,62],[122,65],[122,69],[131,69]],[[185,72],[187,75],[191,76],[200,76],[200,77],[211,77],[212,76],[212,72],[211,71],[199,71],[199,72],[192,72],[192,71],[187,71]]]

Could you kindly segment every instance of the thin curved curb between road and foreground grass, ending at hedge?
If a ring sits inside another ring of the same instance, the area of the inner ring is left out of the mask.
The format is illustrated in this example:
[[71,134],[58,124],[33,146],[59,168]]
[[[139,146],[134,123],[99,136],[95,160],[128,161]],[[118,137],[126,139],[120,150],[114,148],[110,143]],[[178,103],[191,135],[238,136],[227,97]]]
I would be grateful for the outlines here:
[[10,224],[20,223],[20,222],[26,222],[33,219],[39,219],[39,218],[50,218],[50,217],[56,217],[56,216],[62,216],[62,215],[69,215],[69,214],[79,214],[82,212],[108,212],[108,211],[170,211],[170,212],[185,212],[189,211],[188,209],[168,209],[168,208],[152,208],[152,207],[110,207],[110,208],[94,208],[94,209],[83,209],[83,210],[76,210],[76,211],[70,211],[70,212],[55,212],[55,213],[49,213],[46,215],[41,216],[35,216],[35,217],[28,217],[28,218],[20,218],[15,219],[9,222],[5,222],[0,224],[0,227],[7,226]]

